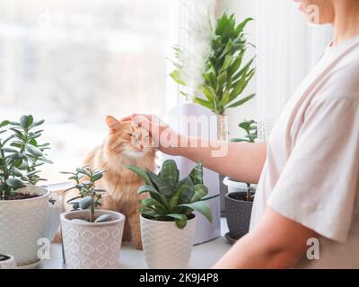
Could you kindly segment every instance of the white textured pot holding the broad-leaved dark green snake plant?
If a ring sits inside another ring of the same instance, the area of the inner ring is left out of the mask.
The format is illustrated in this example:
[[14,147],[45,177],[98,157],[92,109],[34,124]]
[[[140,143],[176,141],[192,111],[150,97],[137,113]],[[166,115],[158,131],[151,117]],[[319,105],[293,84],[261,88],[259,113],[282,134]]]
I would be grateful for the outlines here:
[[144,257],[152,269],[184,269],[188,267],[196,230],[196,217],[181,230],[175,222],[158,222],[141,216],[141,237]]

